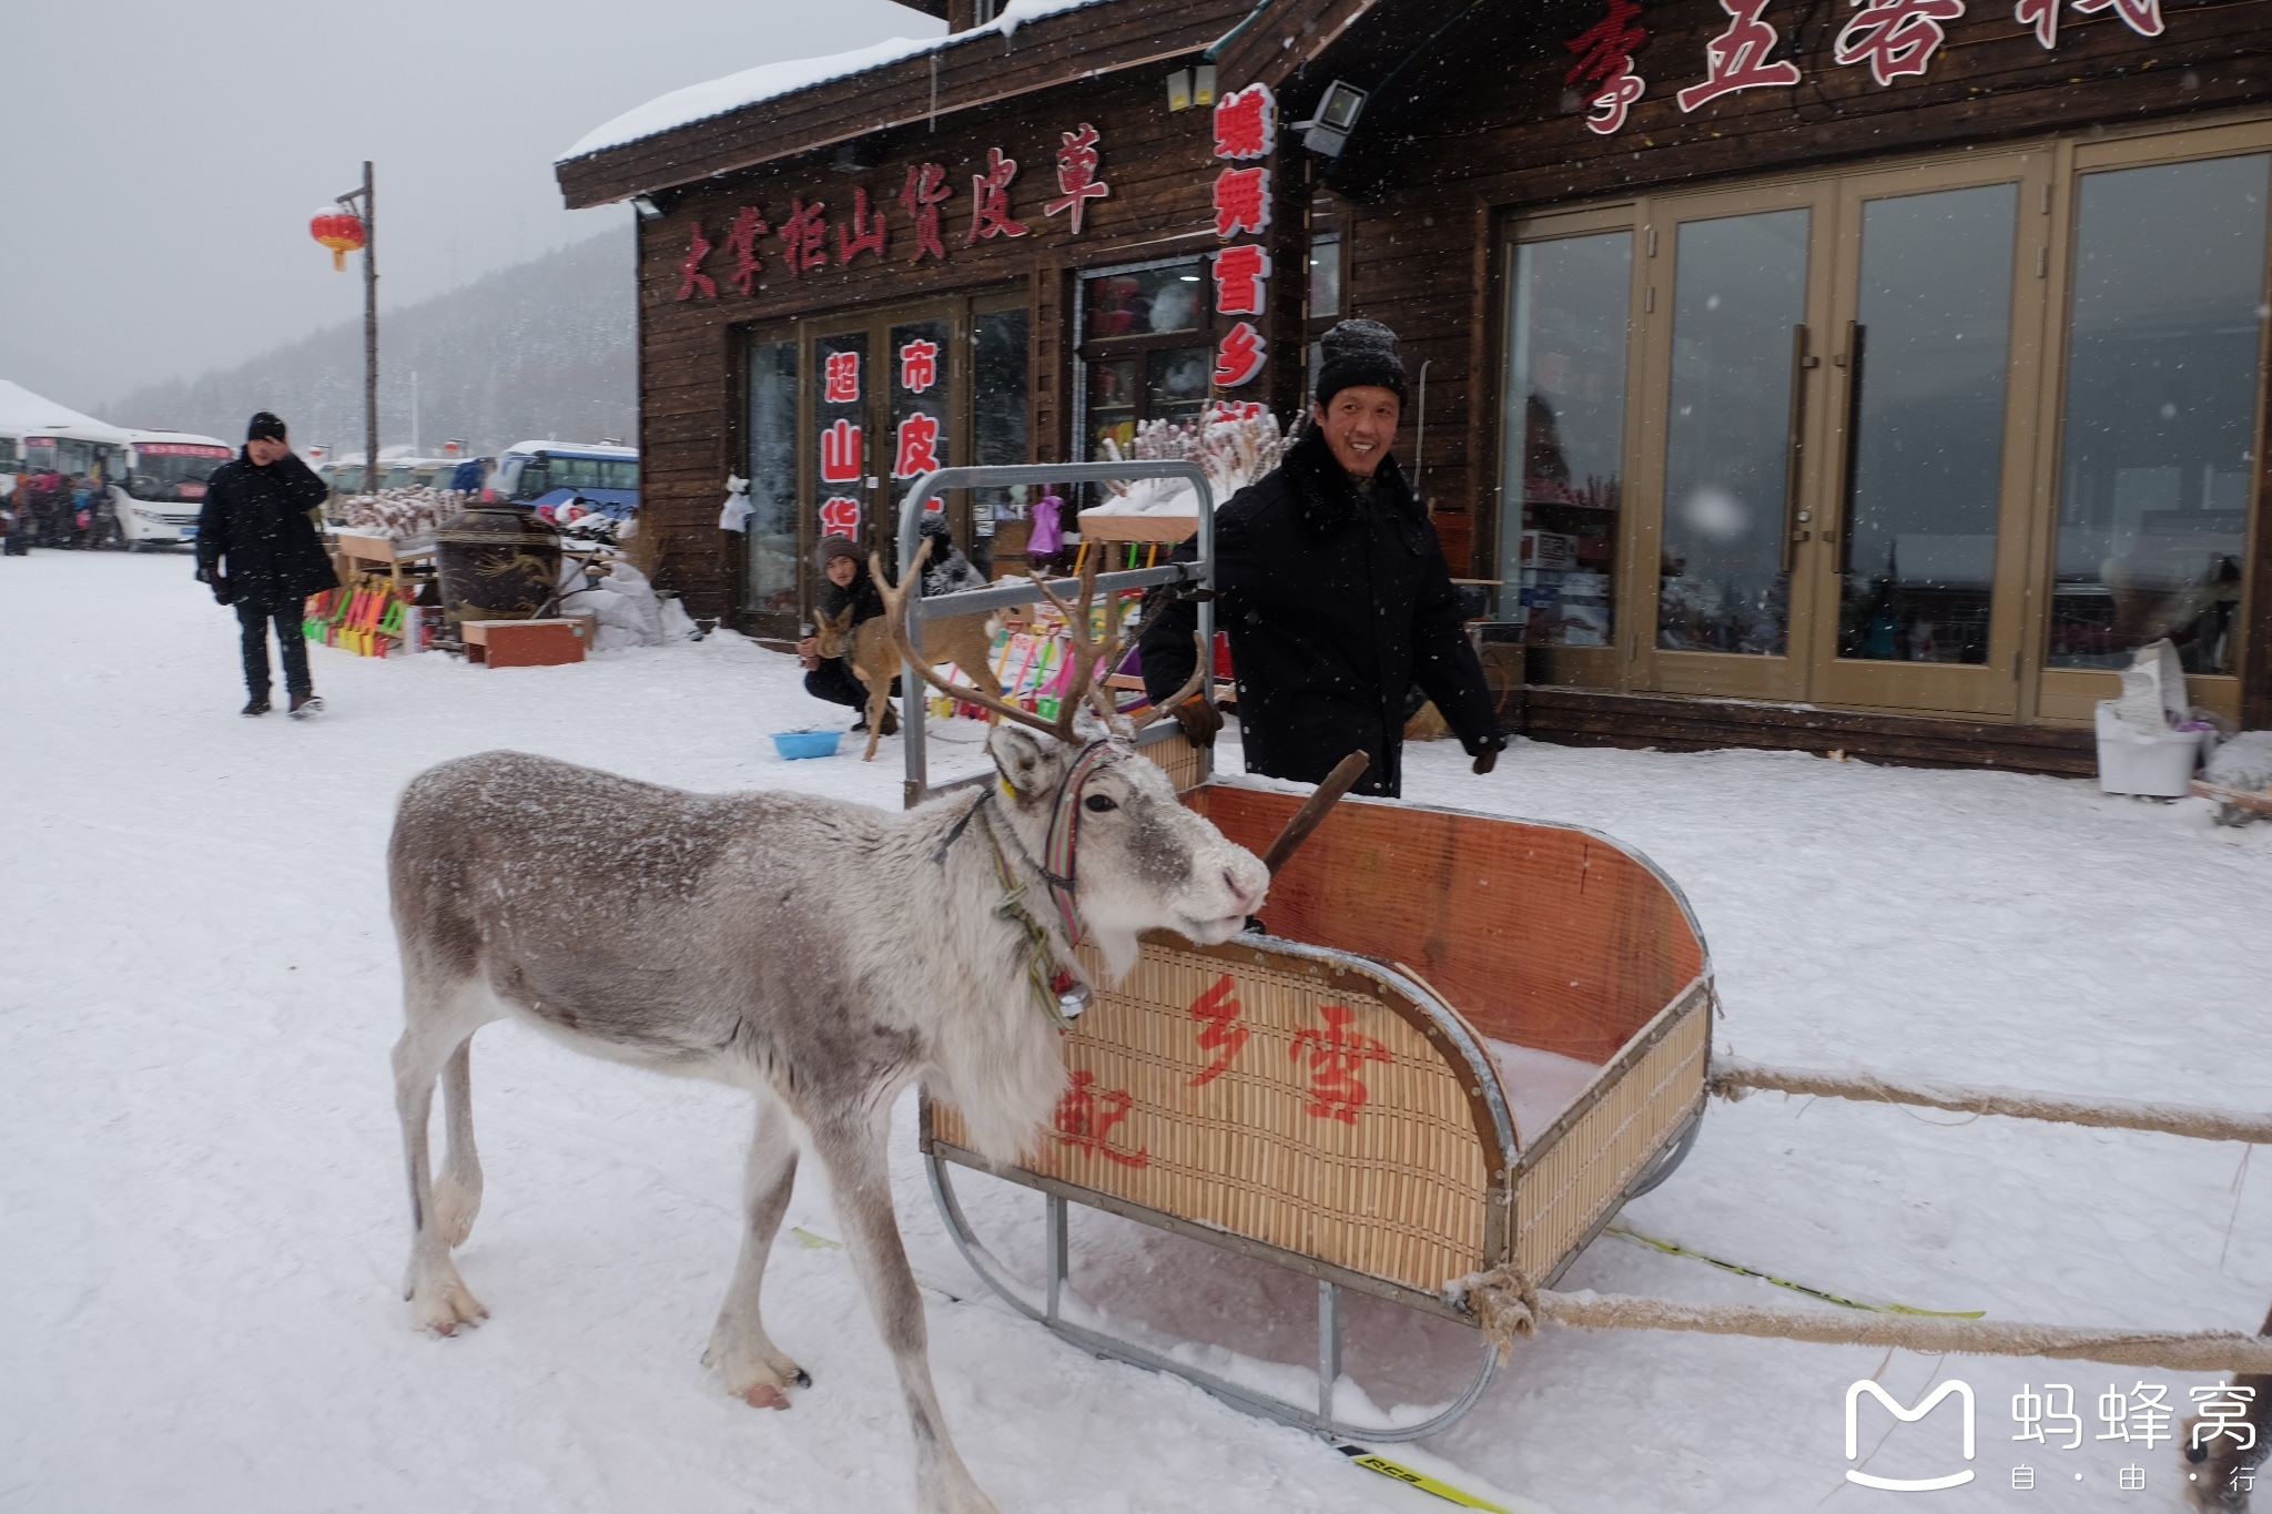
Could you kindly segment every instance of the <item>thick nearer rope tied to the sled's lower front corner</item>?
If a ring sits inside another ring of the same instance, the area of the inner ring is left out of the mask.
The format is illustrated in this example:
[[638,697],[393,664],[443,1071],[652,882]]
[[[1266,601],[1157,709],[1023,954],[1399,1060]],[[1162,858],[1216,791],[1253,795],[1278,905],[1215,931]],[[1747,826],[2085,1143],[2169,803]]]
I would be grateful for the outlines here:
[[2086,1330],[1993,1319],[1834,1314],[1752,1303],[1559,1294],[1531,1285],[1513,1264],[1468,1273],[1445,1292],[1475,1317],[1484,1337],[1500,1348],[1502,1362],[1515,1341],[1538,1335],[1540,1323],[1554,1323],[1579,1330],[1695,1330],[1822,1346],[1899,1346],[1929,1355],[2054,1357],[2202,1373],[2272,1371],[2272,1337],[2238,1330]]

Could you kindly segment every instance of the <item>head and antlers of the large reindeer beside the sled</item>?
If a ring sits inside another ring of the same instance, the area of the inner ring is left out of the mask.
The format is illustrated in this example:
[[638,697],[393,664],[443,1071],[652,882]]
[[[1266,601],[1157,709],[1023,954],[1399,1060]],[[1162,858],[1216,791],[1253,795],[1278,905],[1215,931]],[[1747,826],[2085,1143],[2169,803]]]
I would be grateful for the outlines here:
[[[929,542],[916,554],[907,583],[920,581]],[[1000,715],[986,751],[1002,774],[1011,829],[1043,869],[1070,876],[1081,926],[1104,951],[1118,978],[1136,962],[1136,937],[1175,931],[1200,944],[1225,942],[1245,928],[1270,872],[1245,847],[1234,844],[1175,797],[1168,774],[1136,754],[1129,738],[1188,699],[1206,679],[1202,656],[1191,681],[1172,697],[1134,717],[1113,710],[1097,670],[1111,670],[1120,640],[1106,631],[1091,636],[1088,606],[1095,599],[1095,567],[1081,574],[1077,604],[1059,599],[1038,577],[1041,592],[1063,613],[1072,638],[1072,676],[1059,697],[1059,717],[1041,720],[1000,692],[943,679],[918,656],[907,636],[907,583],[888,586],[882,563],[884,622],[900,654],[932,685]]]

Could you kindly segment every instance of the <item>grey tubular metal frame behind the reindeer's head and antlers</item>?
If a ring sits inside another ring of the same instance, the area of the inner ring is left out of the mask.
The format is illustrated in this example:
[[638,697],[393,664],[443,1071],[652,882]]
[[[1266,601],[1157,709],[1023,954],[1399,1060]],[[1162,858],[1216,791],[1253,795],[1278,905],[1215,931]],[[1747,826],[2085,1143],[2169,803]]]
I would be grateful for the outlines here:
[[[1200,556],[1193,563],[1161,563],[1159,567],[1125,567],[1120,572],[1097,572],[1097,592],[1111,595],[1129,588],[1152,588],[1154,583],[1191,583],[1197,588],[1211,588],[1216,581],[1216,490],[1206,481],[1206,470],[1197,463],[1177,461],[1127,461],[1127,463],[1004,463],[995,468],[936,468],[913,481],[907,490],[907,499],[900,504],[900,581],[907,581],[909,567],[916,563],[916,552],[922,547],[922,533],[918,522],[922,520],[925,499],[936,499],[950,488],[1009,488],[1013,483],[1111,483],[1125,479],[1186,479],[1200,495]],[[1072,508],[1072,502],[1066,502]],[[1050,586],[1059,595],[1079,592],[1077,579],[1056,579]],[[1038,604],[1043,599],[1041,590],[1029,583],[1004,583],[997,588],[968,588],[957,595],[938,595],[936,599],[922,597],[922,583],[909,586],[907,592],[907,640],[916,647],[922,645],[922,622],[943,615],[972,615],[982,611],[1004,611],[1013,604]],[[1216,606],[1211,599],[1200,602],[1200,645],[1216,645]],[[963,676],[979,679],[988,670],[963,670]],[[1111,670],[1106,670],[1111,672]],[[932,794],[941,794],[968,783],[984,783],[991,774],[972,774],[968,779],[957,779],[954,783],[943,783],[938,788],[929,785],[929,763],[925,749],[922,729],[922,704],[929,697],[929,685],[922,674],[916,672],[913,663],[902,663],[900,667],[900,731],[902,749],[907,754],[907,783],[902,790],[902,801],[907,808],[916,808]],[[1216,701],[1216,681],[1202,679],[1200,699],[1209,704]],[[1179,726],[1168,722],[1154,722],[1136,733],[1136,745],[1147,747],[1152,742],[1163,742],[1177,735]],[[1200,749],[1200,781],[1204,783],[1213,774],[1213,751]]]

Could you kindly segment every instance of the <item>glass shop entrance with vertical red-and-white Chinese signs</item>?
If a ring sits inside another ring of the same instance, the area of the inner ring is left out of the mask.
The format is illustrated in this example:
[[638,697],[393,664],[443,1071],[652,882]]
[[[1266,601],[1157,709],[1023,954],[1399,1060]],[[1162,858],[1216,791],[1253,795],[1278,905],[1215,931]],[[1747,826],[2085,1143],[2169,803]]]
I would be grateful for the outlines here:
[[[1029,320],[1013,293],[841,311],[750,334],[745,606],[754,631],[797,629],[820,536],[888,554],[913,479],[972,461],[1027,461],[1027,352]],[[1009,493],[950,490],[943,504],[954,542],[984,563]]]

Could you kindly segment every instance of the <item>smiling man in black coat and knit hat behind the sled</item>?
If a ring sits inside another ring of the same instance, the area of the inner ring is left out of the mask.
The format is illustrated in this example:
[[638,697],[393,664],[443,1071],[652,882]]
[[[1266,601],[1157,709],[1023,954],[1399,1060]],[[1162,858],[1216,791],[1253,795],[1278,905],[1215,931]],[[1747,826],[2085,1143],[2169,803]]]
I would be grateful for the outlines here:
[[[1372,765],[1356,792],[1390,797],[1413,683],[1475,772],[1506,747],[1436,527],[1388,452],[1404,413],[1395,340],[1377,320],[1327,331],[1313,424],[1216,513],[1216,624],[1231,638],[1247,772],[1318,783],[1363,751]],[[1193,624],[1193,604],[1175,599],[1145,624],[1152,699],[1191,676]],[[1202,745],[1222,724],[1200,701],[1177,720]]]

